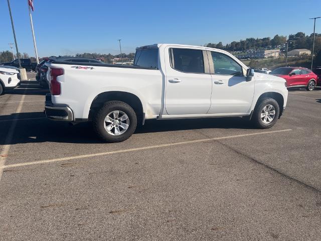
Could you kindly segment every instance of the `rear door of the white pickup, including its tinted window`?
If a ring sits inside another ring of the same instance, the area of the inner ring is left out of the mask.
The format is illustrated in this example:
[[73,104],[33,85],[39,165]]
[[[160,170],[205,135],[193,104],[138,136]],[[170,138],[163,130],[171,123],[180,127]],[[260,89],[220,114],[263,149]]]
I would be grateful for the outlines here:
[[211,106],[212,78],[202,48],[167,47],[165,108],[170,115],[206,114]]

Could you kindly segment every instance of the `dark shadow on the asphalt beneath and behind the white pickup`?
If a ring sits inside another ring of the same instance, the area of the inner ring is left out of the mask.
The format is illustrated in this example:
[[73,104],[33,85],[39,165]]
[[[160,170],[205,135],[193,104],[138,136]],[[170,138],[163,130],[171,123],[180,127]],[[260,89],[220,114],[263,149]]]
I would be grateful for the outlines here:
[[[20,113],[15,134],[10,143],[6,142],[11,121],[17,114],[0,116],[0,145],[13,145],[21,143],[79,143],[95,144],[103,143],[93,132],[90,123],[80,123],[75,126],[59,121],[50,121],[44,117],[43,112]],[[35,118],[35,119],[22,119]],[[198,129],[253,129],[250,122],[240,117],[230,118],[199,118],[199,119],[173,119],[173,120],[149,120],[142,127],[137,127],[135,134],[147,134],[157,132],[173,132]]]

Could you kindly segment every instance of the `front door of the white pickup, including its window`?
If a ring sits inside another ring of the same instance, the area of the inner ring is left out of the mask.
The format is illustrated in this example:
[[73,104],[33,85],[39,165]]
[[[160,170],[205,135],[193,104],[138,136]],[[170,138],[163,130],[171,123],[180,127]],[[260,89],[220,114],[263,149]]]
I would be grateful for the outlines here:
[[242,66],[224,53],[211,52],[209,57],[214,65],[209,113],[248,113],[254,96],[254,77],[247,82]]

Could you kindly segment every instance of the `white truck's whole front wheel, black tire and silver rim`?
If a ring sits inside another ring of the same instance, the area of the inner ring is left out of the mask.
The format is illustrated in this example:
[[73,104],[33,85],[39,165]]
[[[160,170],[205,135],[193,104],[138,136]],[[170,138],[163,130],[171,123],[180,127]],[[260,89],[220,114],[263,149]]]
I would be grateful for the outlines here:
[[252,121],[260,129],[271,128],[277,122],[280,107],[275,99],[263,98],[254,109]]

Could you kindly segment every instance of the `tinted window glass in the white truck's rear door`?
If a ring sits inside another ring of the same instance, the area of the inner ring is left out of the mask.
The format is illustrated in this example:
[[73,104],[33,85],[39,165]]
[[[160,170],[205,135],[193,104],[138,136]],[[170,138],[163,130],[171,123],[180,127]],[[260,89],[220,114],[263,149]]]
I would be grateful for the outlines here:
[[205,73],[203,51],[197,49],[170,49],[172,68],[186,73]]

